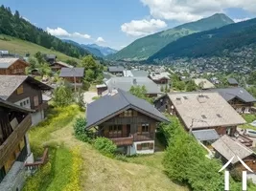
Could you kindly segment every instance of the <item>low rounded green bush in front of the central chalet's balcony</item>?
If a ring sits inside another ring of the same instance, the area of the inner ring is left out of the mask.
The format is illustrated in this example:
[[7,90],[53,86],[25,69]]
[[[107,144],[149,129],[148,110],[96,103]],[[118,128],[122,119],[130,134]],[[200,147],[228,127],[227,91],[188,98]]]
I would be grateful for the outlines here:
[[98,151],[108,157],[113,157],[117,148],[116,145],[108,138],[96,138],[93,145]]

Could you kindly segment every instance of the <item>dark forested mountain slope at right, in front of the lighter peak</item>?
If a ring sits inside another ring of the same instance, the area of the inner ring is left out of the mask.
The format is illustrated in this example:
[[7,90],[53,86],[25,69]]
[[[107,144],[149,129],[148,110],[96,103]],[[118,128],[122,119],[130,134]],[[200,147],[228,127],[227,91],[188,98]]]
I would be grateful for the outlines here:
[[256,19],[235,23],[207,32],[198,32],[170,43],[148,61],[223,56],[256,43]]

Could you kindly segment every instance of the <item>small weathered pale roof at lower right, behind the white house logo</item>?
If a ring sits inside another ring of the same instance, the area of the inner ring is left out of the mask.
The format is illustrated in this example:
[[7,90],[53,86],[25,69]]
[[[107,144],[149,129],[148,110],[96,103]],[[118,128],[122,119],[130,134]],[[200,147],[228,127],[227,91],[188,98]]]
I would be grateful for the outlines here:
[[[231,159],[234,156],[238,156],[240,159],[244,159],[254,154],[252,150],[226,135],[215,141],[212,146],[221,154],[222,157],[227,160]],[[232,160],[232,164],[235,164],[238,161],[238,158],[234,158]]]

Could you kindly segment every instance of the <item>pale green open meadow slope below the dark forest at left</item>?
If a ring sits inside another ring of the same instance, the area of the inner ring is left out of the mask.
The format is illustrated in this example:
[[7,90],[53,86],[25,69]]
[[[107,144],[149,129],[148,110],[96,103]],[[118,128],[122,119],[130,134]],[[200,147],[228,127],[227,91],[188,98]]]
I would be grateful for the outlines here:
[[59,53],[57,51],[52,51],[50,49],[46,49],[34,43],[24,41],[18,38],[14,38],[12,36],[0,34],[0,50],[8,50],[10,53],[18,53],[24,55],[26,53],[35,54],[37,52],[41,53],[54,53],[57,55],[58,60],[66,61],[68,59],[73,59],[77,62],[81,62],[80,59],[68,56],[64,53]]

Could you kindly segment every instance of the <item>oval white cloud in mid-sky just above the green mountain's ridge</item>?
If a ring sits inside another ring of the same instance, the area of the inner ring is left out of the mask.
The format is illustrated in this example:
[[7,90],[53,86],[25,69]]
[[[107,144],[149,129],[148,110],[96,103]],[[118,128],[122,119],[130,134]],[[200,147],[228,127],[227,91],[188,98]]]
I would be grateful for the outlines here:
[[157,32],[165,27],[167,27],[167,24],[160,19],[142,19],[132,20],[129,23],[124,23],[121,26],[121,30],[129,35],[141,36]]

